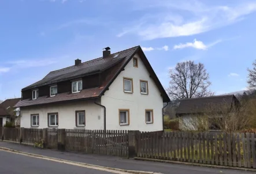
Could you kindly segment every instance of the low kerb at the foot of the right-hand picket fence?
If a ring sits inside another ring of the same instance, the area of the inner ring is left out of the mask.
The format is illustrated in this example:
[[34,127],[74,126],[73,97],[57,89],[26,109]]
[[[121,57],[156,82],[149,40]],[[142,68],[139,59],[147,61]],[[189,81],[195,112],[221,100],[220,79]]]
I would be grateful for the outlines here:
[[134,157],[133,159],[134,160],[142,160],[142,161],[165,162],[165,163],[172,163],[172,164],[194,165],[194,166],[199,166],[199,167],[210,167],[210,168],[220,168],[220,169],[235,169],[235,170],[240,170],[240,171],[256,172],[256,169],[239,168],[239,167],[227,167],[227,166],[222,166],[222,165],[199,164],[199,163],[191,163],[191,162],[169,161],[169,160],[159,160],[159,159],[141,158],[141,157]]

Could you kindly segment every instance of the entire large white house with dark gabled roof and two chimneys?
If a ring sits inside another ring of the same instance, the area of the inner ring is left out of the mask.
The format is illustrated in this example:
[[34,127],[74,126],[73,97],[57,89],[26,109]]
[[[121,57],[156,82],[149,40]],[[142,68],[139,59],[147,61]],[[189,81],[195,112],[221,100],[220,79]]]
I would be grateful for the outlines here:
[[140,46],[51,71],[22,89],[21,127],[163,129],[169,97]]

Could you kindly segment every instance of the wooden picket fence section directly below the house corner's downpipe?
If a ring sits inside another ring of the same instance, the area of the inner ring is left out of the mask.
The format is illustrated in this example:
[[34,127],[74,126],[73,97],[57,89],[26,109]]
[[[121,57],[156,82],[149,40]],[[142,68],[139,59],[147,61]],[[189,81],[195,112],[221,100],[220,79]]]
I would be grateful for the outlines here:
[[128,131],[66,130],[66,150],[128,156]]

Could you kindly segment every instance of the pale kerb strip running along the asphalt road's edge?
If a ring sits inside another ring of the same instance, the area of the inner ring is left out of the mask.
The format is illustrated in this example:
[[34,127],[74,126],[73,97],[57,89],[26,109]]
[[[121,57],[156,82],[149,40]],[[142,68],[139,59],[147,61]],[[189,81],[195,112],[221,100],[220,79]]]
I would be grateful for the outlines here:
[[114,170],[114,171],[127,172],[127,173],[133,173],[133,174],[160,174],[160,173],[155,173],[155,172],[132,171],[132,170],[125,170],[125,169],[111,168],[111,167],[103,167],[103,166],[100,166],[100,165],[87,164],[87,163],[83,163],[83,162],[68,161],[68,160],[63,160],[63,159],[60,159],[60,158],[53,158],[53,157],[42,156],[42,155],[39,155],[39,154],[21,152],[21,151],[14,150],[14,149],[9,149],[9,148],[6,148],[6,147],[0,147],[0,150],[26,154],[28,156],[34,156],[34,157],[49,158],[49,159],[58,160],[58,161],[73,162],[75,164],[80,164],[80,165],[84,165],[84,166],[88,166],[88,167],[105,168],[105,169],[110,169],[110,170]]

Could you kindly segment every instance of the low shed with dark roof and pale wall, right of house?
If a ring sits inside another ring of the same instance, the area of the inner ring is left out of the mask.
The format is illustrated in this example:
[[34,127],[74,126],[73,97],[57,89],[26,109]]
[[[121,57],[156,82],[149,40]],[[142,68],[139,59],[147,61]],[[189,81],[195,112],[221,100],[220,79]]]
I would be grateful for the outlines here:
[[[210,96],[210,97],[201,97],[193,99],[183,99],[180,101],[180,105],[177,108],[176,116],[179,117],[180,129],[183,130],[183,125],[191,127],[191,130],[195,129],[192,125],[196,117],[201,115],[207,115],[208,112],[216,112],[220,114],[222,109],[238,107],[239,100],[236,97],[231,95],[225,96]],[[193,120],[194,119],[194,120]],[[185,123],[185,124],[183,124]],[[191,123],[191,124],[190,124]],[[212,123],[208,122],[209,129],[218,129],[218,127]]]

